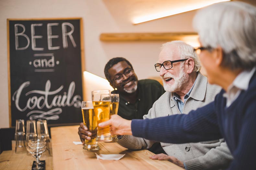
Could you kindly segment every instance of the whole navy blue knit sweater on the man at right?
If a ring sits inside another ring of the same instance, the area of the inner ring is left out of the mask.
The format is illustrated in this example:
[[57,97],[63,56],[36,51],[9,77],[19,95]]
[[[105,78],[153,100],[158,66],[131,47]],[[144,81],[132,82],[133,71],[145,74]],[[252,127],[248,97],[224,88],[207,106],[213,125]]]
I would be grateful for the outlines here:
[[226,107],[222,90],[215,101],[188,115],[132,120],[134,136],[166,143],[188,143],[223,138],[234,156],[229,170],[256,169],[256,74],[249,87]]

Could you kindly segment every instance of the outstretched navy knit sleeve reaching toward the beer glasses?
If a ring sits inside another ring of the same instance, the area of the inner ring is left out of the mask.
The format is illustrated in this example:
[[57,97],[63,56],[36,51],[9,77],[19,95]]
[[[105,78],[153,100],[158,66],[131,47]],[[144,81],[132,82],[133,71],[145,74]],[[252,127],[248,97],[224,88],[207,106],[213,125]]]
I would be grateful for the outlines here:
[[213,102],[191,111],[188,115],[134,119],[132,134],[166,143],[200,142],[222,138]]

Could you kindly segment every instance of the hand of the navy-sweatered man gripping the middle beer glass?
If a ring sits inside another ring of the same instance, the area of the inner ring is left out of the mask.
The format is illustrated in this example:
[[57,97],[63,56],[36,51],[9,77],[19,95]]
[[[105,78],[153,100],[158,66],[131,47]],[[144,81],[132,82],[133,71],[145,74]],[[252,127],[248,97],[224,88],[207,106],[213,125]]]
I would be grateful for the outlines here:
[[111,119],[99,123],[99,127],[106,127],[110,125],[112,135],[132,135],[131,128],[132,121],[126,120],[119,115],[111,115]]

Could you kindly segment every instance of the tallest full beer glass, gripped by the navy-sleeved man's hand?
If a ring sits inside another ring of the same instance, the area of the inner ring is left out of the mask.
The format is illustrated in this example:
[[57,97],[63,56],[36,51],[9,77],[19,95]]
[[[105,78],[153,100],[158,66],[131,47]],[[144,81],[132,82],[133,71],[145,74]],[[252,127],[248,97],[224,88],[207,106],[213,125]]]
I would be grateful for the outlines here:
[[[104,95],[101,98],[101,95]],[[109,120],[110,116],[111,92],[110,90],[92,91],[92,104],[97,117],[97,124]],[[97,141],[112,141],[110,127],[100,128],[97,131]]]

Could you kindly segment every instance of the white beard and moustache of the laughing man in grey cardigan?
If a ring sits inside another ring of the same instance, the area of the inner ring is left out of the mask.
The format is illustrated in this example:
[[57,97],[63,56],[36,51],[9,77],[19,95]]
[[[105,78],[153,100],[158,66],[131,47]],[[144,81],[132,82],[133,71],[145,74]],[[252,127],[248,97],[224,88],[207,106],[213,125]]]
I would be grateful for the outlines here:
[[[169,72],[167,72],[164,76],[161,76],[161,78],[163,80],[163,85],[164,85],[165,91],[167,91],[167,92],[179,91],[179,90],[181,90],[181,87],[188,81],[189,76],[187,74],[185,74],[185,72],[184,72],[184,65],[180,66],[179,72],[180,72],[180,74],[177,77],[172,75]],[[169,85],[168,83],[166,83],[164,78],[168,78],[168,77],[172,77],[172,79],[174,79],[174,84]]]

